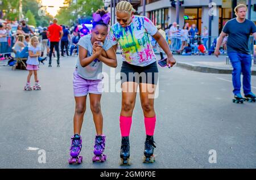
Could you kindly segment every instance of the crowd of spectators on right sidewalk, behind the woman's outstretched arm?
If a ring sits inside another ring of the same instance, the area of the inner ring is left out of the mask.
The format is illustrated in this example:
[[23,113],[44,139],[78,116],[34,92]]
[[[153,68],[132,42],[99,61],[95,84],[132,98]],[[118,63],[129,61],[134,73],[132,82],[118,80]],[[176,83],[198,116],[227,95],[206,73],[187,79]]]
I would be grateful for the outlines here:
[[[213,42],[208,45],[209,32],[208,28],[205,26],[203,32],[200,34],[199,29],[197,29],[196,24],[189,25],[185,23],[183,27],[180,27],[176,22],[169,25],[168,28],[161,29],[160,25],[157,25],[159,31],[164,32],[164,37],[168,41],[172,53],[182,54],[182,55],[205,55],[213,54],[216,48],[217,38],[213,38]],[[226,53],[226,42],[227,37],[221,44],[221,53]],[[163,58],[162,50],[152,39],[152,45],[155,50],[160,53],[161,58]]]

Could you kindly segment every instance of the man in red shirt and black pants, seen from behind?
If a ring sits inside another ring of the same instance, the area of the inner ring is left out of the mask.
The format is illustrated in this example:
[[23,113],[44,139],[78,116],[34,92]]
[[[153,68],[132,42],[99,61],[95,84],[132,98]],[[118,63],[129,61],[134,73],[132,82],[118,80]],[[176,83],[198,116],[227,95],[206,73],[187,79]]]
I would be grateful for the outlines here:
[[50,52],[49,52],[49,67],[52,67],[52,52],[53,48],[57,52],[57,67],[60,67],[60,51],[59,42],[63,36],[63,29],[57,24],[58,20],[53,19],[53,24],[48,27],[48,38],[50,41]]

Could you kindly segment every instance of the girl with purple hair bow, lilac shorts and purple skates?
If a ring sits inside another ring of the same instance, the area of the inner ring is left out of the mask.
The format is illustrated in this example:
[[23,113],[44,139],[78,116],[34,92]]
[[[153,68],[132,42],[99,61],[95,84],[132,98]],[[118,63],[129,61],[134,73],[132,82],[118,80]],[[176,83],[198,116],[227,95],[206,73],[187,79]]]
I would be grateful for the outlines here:
[[73,73],[73,90],[76,101],[74,115],[74,136],[71,138],[69,164],[82,162],[79,153],[82,148],[80,136],[82,122],[84,119],[86,97],[90,97],[90,109],[96,127],[96,138],[94,145],[93,162],[104,162],[106,155],[105,138],[102,133],[103,117],[101,113],[102,93],[102,62],[111,67],[117,66],[117,58],[112,44],[106,39],[108,35],[108,24],[110,14],[105,10],[98,10],[93,14],[92,34],[81,37],[79,40],[79,58]]

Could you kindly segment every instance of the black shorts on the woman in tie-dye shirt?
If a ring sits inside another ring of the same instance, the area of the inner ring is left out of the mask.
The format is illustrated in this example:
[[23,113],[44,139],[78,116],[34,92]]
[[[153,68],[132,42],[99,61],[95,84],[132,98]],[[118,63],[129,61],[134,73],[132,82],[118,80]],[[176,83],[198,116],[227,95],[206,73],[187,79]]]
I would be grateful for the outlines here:
[[121,68],[121,82],[136,82],[157,84],[158,83],[158,65],[156,62],[148,66],[135,66],[123,61]]

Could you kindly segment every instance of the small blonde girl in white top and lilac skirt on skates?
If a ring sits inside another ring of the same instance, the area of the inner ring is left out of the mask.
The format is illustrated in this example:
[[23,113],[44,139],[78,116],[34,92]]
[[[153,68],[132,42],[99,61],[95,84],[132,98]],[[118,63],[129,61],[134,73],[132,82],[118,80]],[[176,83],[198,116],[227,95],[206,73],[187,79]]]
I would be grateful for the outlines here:
[[40,90],[41,86],[39,84],[38,81],[38,65],[39,65],[39,61],[38,61],[38,57],[40,57],[41,55],[41,48],[40,46],[38,46],[38,37],[34,36],[31,38],[30,40],[31,46],[28,48],[28,59],[26,61],[27,63],[27,70],[28,72],[28,76],[27,76],[27,84],[24,87],[24,90],[28,90],[31,91],[32,87],[30,84],[30,78],[32,76],[32,74],[34,73],[34,77],[35,77],[35,86],[33,87],[34,90]]

